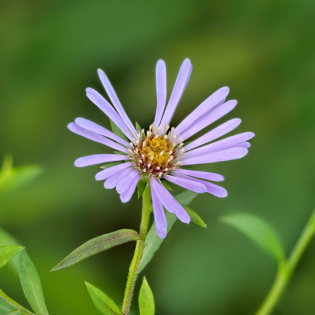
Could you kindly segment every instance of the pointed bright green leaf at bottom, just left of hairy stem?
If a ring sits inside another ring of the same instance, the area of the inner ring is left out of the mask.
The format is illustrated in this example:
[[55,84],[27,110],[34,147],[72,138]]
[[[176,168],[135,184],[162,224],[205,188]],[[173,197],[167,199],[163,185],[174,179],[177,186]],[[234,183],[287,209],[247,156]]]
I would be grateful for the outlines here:
[[96,308],[104,315],[123,315],[117,304],[103,291],[85,282]]

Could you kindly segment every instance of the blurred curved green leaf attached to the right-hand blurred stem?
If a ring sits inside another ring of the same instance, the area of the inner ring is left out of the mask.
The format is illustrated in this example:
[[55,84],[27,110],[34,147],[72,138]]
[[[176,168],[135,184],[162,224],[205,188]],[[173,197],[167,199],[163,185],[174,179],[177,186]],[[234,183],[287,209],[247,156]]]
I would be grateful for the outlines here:
[[221,221],[235,227],[278,261],[283,261],[284,251],[278,235],[266,221],[247,213],[226,215]]

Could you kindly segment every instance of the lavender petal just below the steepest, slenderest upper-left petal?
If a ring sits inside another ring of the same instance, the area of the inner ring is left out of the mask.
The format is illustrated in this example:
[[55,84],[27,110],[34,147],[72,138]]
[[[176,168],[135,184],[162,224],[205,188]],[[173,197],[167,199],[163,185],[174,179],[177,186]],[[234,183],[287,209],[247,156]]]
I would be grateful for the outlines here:
[[96,92],[94,89],[87,88],[86,89],[87,97],[97,106],[99,107],[108,118],[110,118],[117,127],[126,135],[127,138],[133,141],[134,134],[130,131],[126,123],[119,116],[119,114],[113,109],[113,107],[105,100],[105,98],[100,95],[100,93]]

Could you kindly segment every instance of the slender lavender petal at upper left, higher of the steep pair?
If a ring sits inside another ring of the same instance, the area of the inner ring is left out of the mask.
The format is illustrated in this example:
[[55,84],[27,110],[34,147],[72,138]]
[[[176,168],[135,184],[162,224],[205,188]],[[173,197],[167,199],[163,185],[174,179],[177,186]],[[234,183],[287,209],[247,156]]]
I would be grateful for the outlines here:
[[123,106],[121,105],[121,103],[117,97],[117,94],[116,94],[114,88],[112,87],[112,84],[109,82],[106,74],[101,69],[98,69],[98,74],[99,74],[100,80],[101,80],[101,82],[105,88],[105,91],[106,91],[108,97],[110,98],[110,100],[112,101],[112,104],[116,108],[118,114],[120,115],[120,117],[122,117],[123,121],[128,126],[128,128],[133,133],[133,135],[135,137],[137,137],[136,129],[133,126],[133,124],[131,123],[125,110],[123,109]]

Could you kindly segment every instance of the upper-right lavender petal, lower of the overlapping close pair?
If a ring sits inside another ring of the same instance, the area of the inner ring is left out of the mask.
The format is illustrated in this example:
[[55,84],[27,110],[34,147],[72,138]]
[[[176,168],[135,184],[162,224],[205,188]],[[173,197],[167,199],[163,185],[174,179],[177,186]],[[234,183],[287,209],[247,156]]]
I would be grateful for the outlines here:
[[213,108],[209,111],[208,116],[201,116],[199,117],[193,124],[191,128],[186,129],[186,131],[180,135],[182,138],[181,141],[184,141],[190,138],[192,135],[196,134],[198,131],[202,130],[203,128],[209,126],[211,123],[215,122],[222,116],[226,115],[228,112],[232,111],[232,109],[236,106],[236,100],[228,100],[224,104],[220,105],[217,108]]

